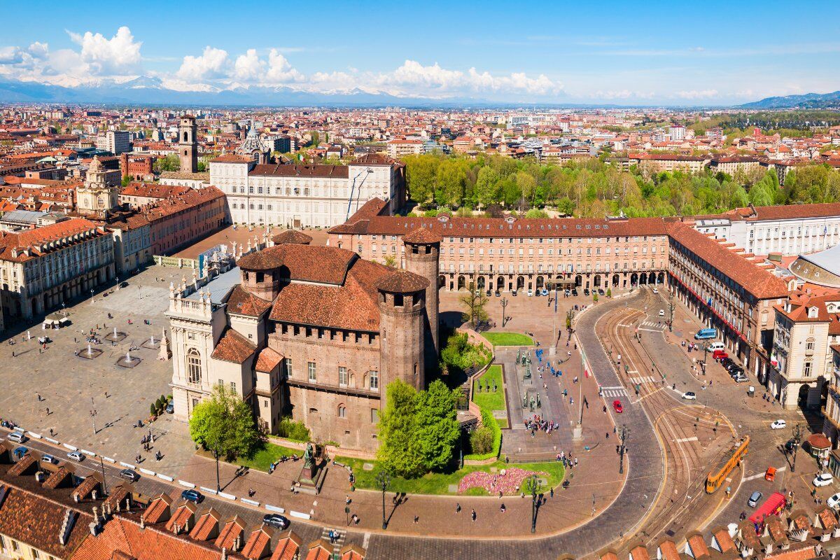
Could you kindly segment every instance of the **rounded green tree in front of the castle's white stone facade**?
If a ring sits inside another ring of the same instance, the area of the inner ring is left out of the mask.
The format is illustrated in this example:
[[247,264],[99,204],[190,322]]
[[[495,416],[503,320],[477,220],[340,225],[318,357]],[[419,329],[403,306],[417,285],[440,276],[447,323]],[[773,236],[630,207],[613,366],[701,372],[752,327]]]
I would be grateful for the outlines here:
[[252,456],[261,442],[250,406],[226,385],[214,385],[210,398],[193,409],[190,437],[228,461]]

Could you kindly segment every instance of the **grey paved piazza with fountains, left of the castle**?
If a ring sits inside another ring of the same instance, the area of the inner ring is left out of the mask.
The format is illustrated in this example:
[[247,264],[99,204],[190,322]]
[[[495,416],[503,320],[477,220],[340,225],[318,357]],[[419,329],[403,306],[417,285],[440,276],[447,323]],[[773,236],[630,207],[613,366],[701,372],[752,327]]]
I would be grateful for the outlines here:
[[[129,285],[120,290],[112,286],[97,293],[93,301],[88,297],[67,306],[72,321],[68,327],[45,331],[40,323],[28,328],[10,326],[8,335],[15,343],[3,343],[0,348],[6,385],[0,393],[2,416],[46,436],[53,428],[61,442],[134,463],[141,453],[140,437],[146,433],[134,424],[148,418],[150,403],[169,394],[172,376],[171,362],[158,360],[158,351],[142,344],[152,335],[160,340],[163,327],[168,327],[164,312],[169,304],[169,284],[181,280],[183,273],[150,267],[129,278]],[[108,319],[108,313],[113,319]],[[115,345],[105,340],[113,327],[127,335]],[[92,348],[102,350],[102,354],[94,359],[76,357],[77,349],[86,351],[85,337],[91,329],[102,339]],[[41,353],[37,338],[44,335],[54,342]],[[142,362],[132,369],[118,366],[118,359],[133,347],[140,347],[131,354]],[[95,418],[91,417],[92,408],[97,411]],[[155,444],[150,453],[142,453],[141,466],[155,463],[150,468],[177,474],[194,451],[188,427],[164,415],[151,430]],[[160,462],[154,458],[158,450],[164,454]]]

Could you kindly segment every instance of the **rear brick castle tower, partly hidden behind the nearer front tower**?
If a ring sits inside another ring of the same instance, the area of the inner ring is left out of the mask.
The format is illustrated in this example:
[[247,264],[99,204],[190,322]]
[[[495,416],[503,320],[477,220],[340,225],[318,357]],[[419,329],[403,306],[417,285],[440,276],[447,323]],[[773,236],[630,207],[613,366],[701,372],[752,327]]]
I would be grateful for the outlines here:
[[406,270],[428,280],[426,288],[426,364],[438,363],[438,275],[440,273],[440,242],[437,233],[420,228],[402,238],[406,246]]

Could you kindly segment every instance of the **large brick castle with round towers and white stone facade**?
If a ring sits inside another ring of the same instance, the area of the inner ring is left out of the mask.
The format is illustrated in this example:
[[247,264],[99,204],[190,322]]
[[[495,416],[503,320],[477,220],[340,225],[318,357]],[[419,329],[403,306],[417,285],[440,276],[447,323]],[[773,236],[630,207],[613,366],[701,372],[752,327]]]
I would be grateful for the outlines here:
[[407,270],[311,240],[266,236],[233,269],[171,286],[176,419],[221,384],[265,432],[291,417],[314,441],[372,451],[386,385],[425,387],[438,354],[440,238],[407,235]]

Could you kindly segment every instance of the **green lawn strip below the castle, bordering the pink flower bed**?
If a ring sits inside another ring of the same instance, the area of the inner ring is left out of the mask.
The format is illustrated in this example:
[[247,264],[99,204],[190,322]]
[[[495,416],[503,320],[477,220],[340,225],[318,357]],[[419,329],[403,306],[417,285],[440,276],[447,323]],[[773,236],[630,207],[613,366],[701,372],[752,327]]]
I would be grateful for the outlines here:
[[[376,490],[380,489],[376,486],[376,473],[379,472],[379,466],[376,461],[365,461],[362,459],[354,459],[348,457],[336,457],[336,461],[349,465],[353,468],[356,475],[356,487],[360,489]],[[364,463],[373,463],[373,470],[365,470],[362,468]],[[426,474],[419,479],[403,479],[402,477],[391,477],[391,485],[388,487],[389,492],[406,492],[407,494],[438,494],[449,495],[449,484],[457,485],[460,479],[464,478],[466,474],[475,471],[490,472],[491,467],[497,469],[518,467],[526,470],[533,470],[548,474],[549,487],[556,488],[563,482],[564,468],[563,463],[556,461],[549,461],[547,463],[524,463],[524,464],[505,464],[504,461],[497,461],[489,465],[472,466],[467,465],[460,468],[454,473],[432,473]],[[548,488],[546,488],[548,491]],[[454,493],[457,495],[457,493]],[[487,495],[485,489],[471,488],[465,495]]]

